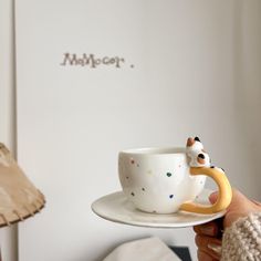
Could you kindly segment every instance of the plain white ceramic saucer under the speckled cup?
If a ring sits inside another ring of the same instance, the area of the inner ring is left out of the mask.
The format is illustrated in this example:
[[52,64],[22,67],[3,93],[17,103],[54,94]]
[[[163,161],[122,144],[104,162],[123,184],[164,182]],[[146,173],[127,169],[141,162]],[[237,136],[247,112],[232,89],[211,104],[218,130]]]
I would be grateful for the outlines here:
[[[208,196],[212,191],[203,189],[197,202],[209,205]],[[212,215],[199,215],[185,211],[176,213],[147,213],[134,207],[122,191],[104,196],[92,203],[92,210],[100,217],[119,223],[152,228],[185,228],[221,218],[226,211]]]

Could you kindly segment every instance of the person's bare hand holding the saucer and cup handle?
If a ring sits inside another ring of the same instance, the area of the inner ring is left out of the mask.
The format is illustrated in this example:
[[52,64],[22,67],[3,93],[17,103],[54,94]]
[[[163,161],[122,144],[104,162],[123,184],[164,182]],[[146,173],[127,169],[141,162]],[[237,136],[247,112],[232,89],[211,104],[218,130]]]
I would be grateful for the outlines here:
[[[210,195],[211,203],[217,201],[218,194]],[[251,212],[261,212],[261,203],[248,199],[237,189],[232,190],[232,200],[223,217],[222,225],[217,221],[194,227],[196,232],[195,241],[198,247],[199,261],[215,261],[220,259],[221,239],[219,237],[220,230],[229,228],[234,221],[241,217],[247,217]],[[222,228],[223,227],[223,228]]]

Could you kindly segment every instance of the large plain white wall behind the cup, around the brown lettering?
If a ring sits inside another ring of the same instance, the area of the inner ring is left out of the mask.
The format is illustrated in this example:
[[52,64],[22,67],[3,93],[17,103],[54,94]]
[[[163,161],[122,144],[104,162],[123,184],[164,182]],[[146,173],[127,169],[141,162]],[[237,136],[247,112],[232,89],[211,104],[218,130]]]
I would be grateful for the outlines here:
[[[191,229],[127,227],[91,212],[93,200],[119,189],[122,148],[180,146],[199,135],[232,185],[260,197],[260,8],[17,1],[18,158],[48,199],[41,215],[20,225],[20,260],[101,260],[150,234],[189,246],[196,260]],[[127,62],[64,67],[64,52]]]

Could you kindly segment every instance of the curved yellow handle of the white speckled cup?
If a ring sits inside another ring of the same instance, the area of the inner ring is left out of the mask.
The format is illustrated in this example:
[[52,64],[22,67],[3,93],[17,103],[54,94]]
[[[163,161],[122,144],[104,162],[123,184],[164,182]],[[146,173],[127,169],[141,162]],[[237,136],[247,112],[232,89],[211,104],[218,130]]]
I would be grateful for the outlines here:
[[225,210],[231,202],[232,189],[225,173],[218,168],[206,167],[190,167],[191,175],[206,175],[212,178],[219,188],[218,200],[212,206],[202,206],[196,202],[185,202],[181,205],[180,210],[196,213],[216,213]]

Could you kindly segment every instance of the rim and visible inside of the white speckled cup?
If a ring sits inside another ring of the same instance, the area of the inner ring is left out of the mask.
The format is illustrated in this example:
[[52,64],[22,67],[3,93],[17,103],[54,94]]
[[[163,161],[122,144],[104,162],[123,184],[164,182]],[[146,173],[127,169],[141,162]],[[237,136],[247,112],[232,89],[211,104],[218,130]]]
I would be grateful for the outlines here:
[[125,155],[184,155],[185,147],[142,147],[123,149],[119,154]]

